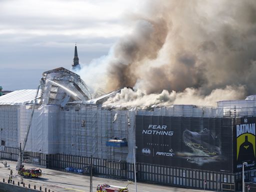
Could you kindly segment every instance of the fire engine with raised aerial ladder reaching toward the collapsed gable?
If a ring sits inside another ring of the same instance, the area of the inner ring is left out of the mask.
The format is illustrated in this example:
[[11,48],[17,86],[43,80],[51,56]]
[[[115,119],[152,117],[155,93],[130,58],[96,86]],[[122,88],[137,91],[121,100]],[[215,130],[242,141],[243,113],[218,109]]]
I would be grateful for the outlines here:
[[33,114],[34,114],[34,109],[35,109],[35,105],[36,105],[36,100],[37,100],[39,88],[40,88],[42,82],[43,82],[43,79],[40,80],[40,83],[38,84],[38,87],[37,87],[37,90],[36,90],[36,94],[35,94],[35,97],[34,97],[34,103],[33,103],[33,106],[32,106],[32,111],[31,111],[31,114],[30,114],[29,122],[28,122],[27,127],[26,127],[25,137],[24,137],[24,140],[23,140],[22,145],[20,147],[20,152],[19,152],[19,155],[18,155],[16,170],[22,176],[28,176],[28,177],[41,176],[41,169],[39,169],[39,168],[25,169],[24,165],[22,164],[22,161],[23,161],[24,149],[25,149],[25,146],[26,146],[28,133],[29,133],[31,123],[32,123],[32,118],[33,118]]

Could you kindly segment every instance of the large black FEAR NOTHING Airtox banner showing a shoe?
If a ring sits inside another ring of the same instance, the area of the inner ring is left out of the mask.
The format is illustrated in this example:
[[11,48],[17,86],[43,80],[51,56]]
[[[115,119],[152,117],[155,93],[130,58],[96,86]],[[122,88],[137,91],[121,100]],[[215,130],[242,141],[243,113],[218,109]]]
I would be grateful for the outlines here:
[[232,172],[232,119],[136,115],[136,160]]

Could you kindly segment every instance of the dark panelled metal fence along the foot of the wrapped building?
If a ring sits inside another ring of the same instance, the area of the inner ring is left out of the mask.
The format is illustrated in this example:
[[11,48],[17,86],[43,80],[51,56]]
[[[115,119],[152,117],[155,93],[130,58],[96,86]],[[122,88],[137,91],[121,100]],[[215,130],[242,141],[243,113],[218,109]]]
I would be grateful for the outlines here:
[[[0,157],[16,160],[18,148],[5,147],[0,152]],[[52,169],[64,169],[73,167],[83,169],[93,166],[94,174],[106,175],[120,179],[134,179],[133,163],[125,161],[108,161],[107,159],[91,158],[69,154],[42,154],[27,152],[30,161],[28,163],[38,164]],[[136,163],[136,175],[138,181],[187,186],[193,188],[204,188],[217,190],[223,186],[232,186],[235,183],[235,175],[214,171],[202,171],[198,169],[178,168],[163,165]],[[204,184],[206,182],[206,184]],[[226,188],[226,187],[225,187]]]

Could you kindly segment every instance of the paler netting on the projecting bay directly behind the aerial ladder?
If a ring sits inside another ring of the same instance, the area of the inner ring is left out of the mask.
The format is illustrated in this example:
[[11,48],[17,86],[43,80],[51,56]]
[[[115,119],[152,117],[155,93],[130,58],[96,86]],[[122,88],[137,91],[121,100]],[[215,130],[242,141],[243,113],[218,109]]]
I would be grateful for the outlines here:
[[[31,110],[31,105],[20,107],[19,143],[21,143],[24,139]],[[46,154],[57,152],[58,110],[59,107],[54,105],[48,105],[40,109],[35,109],[31,128],[28,133],[25,151],[41,152]]]

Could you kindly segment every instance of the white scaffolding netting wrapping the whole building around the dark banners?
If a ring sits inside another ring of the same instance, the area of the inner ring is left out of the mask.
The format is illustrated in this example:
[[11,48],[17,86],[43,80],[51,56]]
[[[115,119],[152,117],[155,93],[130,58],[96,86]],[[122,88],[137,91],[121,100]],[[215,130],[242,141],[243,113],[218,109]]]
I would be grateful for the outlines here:
[[[41,105],[35,107],[25,151],[92,155],[113,161],[132,162],[136,115],[221,118],[256,116],[255,95],[247,96],[245,100],[218,101],[217,107],[107,106],[100,103],[119,90],[88,100],[91,98],[90,93],[78,75],[63,68],[46,71],[43,75],[45,81],[41,91]],[[6,96],[1,99],[0,150],[5,146],[18,147],[24,139],[35,90],[23,92],[26,93],[24,97],[20,92],[14,92],[9,99]],[[15,97],[22,99],[16,102],[13,100]],[[127,146],[107,145],[109,139],[123,139],[127,141]]]

